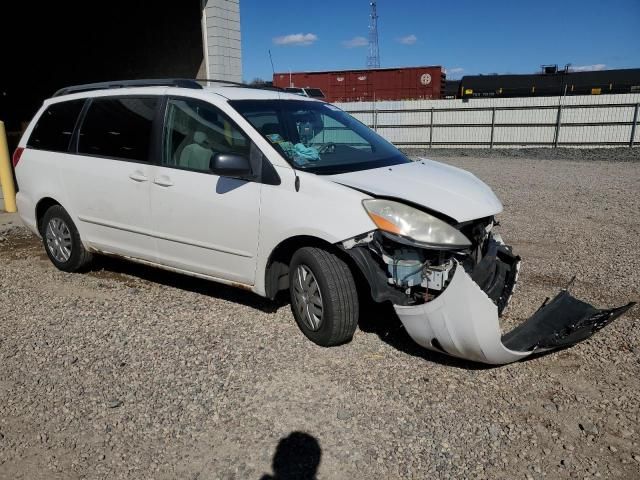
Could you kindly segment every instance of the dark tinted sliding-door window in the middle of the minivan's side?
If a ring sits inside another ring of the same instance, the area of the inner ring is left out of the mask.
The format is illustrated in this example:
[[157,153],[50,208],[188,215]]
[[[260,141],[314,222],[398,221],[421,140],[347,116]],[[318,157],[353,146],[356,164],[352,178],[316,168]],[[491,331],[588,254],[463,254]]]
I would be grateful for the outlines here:
[[149,161],[157,97],[95,98],[82,123],[78,153]]

